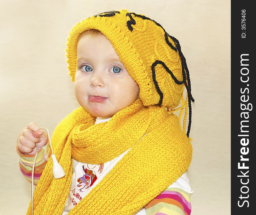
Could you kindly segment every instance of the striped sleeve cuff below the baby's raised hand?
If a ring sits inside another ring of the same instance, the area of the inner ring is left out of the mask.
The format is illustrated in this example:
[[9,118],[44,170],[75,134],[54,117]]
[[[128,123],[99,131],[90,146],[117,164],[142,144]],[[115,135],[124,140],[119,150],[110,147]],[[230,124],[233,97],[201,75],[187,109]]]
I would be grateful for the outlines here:
[[[32,168],[33,168],[35,155],[28,155],[28,154],[21,153],[19,151],[18,145],[17,145],[17,152],[19,153],[19,156],[20,156],[20,160],[19,160],[20,171],[22,172],[23,176],[29,182],[31,182]],[[36,164],[35,164],[35,171],[34,171],[34,185],[37,185],[39,178],[42,175],[42,172],[50,156],[51,156],[51,150],[48,143],[44,147],[42,147],[40,151],[38,151]]]

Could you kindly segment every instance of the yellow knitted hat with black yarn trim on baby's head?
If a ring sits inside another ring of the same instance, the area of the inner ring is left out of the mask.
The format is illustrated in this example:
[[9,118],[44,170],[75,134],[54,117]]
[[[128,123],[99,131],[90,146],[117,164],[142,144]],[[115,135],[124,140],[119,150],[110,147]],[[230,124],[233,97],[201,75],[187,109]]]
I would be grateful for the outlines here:
[[[194,99],[179,41],[154,20],[125,9],[91,16],[77,23],[69,33],[66,51],[72,81],[77,70],[78,38],[89,29],[97,29],[109,39],[129,75],[140,87],[144,106],[163,105],[170,112],[180,110],[180,118],[185,108],[183,130],[186,129],[189,107],[189,136],[191,101]],[[186,101],[183,98],[184,86],[187,89]],[[174,109],[180,103],[181,107]]]

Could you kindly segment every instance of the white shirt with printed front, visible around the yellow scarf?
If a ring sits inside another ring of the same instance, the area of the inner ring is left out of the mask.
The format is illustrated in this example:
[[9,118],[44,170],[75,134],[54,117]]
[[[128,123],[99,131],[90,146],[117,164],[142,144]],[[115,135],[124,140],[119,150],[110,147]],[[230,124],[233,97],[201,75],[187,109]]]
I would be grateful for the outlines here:
[[[111,119],[97,119],[95,124],[103,123]],[[68,212],[78,204],[92,189],[95,187],[102,178],[109,173],[109,171],[115,166],[115,164],[123,158],[123,156],[130,150],[129,148],[118,157],[108,161],[104,164],[89,164],[78,162],[73,159],[73,176],[69,190],[69,196],[65,203],[65,207],[62,215],[67,215]],[[193,193],[189,185],[189,180],[186,172],[183,173],[175,182],[173,182],[168,188],[177,187],[188,193]],[[136,215],[146,215],[146,210],[143,207]]]

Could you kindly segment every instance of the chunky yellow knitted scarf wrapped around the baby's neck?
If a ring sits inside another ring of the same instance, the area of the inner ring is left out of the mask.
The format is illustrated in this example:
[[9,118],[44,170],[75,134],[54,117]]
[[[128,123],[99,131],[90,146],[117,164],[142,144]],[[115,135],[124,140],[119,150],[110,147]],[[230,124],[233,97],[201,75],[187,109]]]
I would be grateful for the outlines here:
[[34,214],[62,214],[72,181],[72,158],[105,163],[131,148],[70,215],[135,214],[189,167],[191,143],[179,118],[163,106],[145,107],[137,99],[109,121],[94,123],[95,116],[79,107],[54,130],[52,147],[66,175],[54,179],[49,159],[34,193]]

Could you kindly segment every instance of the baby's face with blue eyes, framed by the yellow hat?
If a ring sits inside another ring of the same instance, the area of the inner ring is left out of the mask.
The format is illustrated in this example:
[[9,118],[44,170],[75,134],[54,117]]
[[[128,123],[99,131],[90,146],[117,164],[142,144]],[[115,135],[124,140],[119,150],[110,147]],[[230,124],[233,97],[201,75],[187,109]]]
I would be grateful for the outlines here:
[[108,118],[131,105],[139,87],[103,35],[84,35],[77,44],[75,94],[93,116]]

